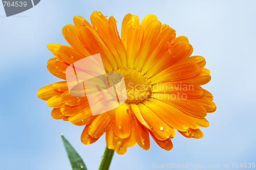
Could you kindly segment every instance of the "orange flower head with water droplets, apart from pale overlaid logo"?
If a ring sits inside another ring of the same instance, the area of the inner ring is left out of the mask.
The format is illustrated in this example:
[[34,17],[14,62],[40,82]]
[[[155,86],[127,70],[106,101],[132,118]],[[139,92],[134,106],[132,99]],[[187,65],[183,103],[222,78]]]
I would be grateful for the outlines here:
[[61,81],[37,91],[53,108],[52,117],[85,125],[81,134],[84,144],[106,133],[106,145],[118,154],[136,143],[148,150],[150,135],[161,148],[170,150],[175,129],[187,138],[201,138],[199,127],[209,126],[204,117],[214,112],[216,105],[211,93],[200,87],[210,81],[210,71],[203,68],[205,59],[190,57],[193,47],[188,39],[176,37],[175,30],[155,15],[147,15],[141,22],[136,15],[125,15],[121,38],[113,16],[108,19],[94,11],[91,23],[75,16],[75,25],[63,27],[62,34],[71,46],[49,44],[55,57],[48,60],[47,68],[66,80],[70,64],[100,53],[106,72],[123,75],[127,100],[93,116],[87,98],[70,95],[67,81]]

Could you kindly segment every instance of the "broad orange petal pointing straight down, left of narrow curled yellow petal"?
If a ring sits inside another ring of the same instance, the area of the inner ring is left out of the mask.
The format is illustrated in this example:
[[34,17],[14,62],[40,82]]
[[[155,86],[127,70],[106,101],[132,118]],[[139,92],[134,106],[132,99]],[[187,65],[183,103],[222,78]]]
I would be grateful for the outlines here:
[[120,138],[127,138],[131,134],[131,115],[127,113],[128,106],[124,103],[116,108],[114,132]]

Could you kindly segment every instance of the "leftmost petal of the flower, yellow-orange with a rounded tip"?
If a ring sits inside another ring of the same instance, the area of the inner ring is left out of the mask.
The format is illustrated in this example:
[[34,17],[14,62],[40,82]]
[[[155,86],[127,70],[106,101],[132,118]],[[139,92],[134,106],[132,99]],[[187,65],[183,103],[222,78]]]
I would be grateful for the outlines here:
[[44,100],[44,101],[47,101],[48,99],[50,99],[52,96],[54,95],[58,95],[58,94],[61,94],[62,92],[59,92],[57,90],[55,90],[53,87],[52,87],[52,84],[49,84],[45,87],[42,87],[40,88],[38,91],[37,91],[37,96],[39,99],[41,100]]

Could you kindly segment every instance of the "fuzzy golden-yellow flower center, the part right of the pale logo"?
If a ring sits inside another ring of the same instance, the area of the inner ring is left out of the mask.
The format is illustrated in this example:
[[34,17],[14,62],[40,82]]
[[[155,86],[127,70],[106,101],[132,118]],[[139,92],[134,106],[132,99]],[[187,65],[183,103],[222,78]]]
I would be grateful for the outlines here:
[[150,99],[152,93],[150,79],[147,79],[138,69],[126,67],[114,72],[123,75],[127,95],[125,103],[138,104]]

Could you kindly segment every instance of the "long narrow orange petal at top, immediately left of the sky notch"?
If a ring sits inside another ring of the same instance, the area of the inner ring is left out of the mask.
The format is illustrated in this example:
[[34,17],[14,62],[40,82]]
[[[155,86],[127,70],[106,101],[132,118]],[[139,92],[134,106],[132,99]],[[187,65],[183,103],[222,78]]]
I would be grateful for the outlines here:
[[116,47],[122,66],[127,66],[126,49],[119,36],[116,27],[116,19],[113,16],[109,18],[109,34],[114,46]]

